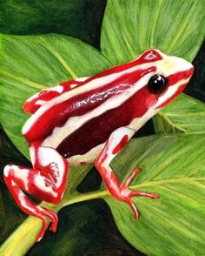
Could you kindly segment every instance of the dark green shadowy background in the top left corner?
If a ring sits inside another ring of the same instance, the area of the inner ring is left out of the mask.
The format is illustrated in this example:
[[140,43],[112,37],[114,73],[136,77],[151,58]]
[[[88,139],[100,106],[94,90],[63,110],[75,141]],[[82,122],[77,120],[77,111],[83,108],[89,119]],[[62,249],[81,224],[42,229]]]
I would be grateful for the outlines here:
[[99,45],[105,0],[2,0],[0,31],[12,35],[58,33]]

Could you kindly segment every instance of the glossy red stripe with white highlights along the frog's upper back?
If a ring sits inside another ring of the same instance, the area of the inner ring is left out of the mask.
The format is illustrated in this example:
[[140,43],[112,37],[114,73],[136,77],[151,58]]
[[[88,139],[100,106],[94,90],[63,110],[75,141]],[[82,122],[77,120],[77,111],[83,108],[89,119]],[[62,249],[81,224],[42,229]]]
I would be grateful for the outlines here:
[[[155,71],[155,67],[124,74],[110,84],[105,84],[94,90],[85,91],[73,98],[69,98],[61,104],[55,104],[36,120],[36,124],[24,134],[25,138],[30,142],[34,140],[43,141],[44,138],[50,136],[55,127],[62,127],[70,117],[84,115],[110,97],[127,91],[143,75],[151,71]],[[56,116],[56,113],[58,113],[57,119],[53,118]]]

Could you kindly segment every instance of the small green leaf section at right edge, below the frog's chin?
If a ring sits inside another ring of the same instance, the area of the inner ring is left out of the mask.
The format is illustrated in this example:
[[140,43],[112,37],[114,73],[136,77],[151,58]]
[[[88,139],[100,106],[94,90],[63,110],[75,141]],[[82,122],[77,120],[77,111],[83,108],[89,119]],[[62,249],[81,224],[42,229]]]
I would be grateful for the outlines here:
[[180,95],[154,117],[156,133],[205,132],[205,104],[187,95]]

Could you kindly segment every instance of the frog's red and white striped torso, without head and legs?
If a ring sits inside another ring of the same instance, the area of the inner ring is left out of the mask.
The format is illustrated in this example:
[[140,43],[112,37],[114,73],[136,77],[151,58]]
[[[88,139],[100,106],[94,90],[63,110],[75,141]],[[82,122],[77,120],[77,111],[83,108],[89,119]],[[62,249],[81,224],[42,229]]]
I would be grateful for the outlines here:
[[29,142],[55,148],[65,158],[95,151],[112,131],[147,111],[143,77],[153,71],[149,60],[143,65],[137,59],[89,77],[43,104],[24,125],[23,135]]

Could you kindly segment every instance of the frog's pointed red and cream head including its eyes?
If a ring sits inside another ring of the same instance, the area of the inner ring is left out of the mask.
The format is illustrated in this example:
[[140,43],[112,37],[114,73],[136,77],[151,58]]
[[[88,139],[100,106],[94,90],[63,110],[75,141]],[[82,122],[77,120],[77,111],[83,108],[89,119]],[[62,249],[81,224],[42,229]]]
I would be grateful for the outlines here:
[[194,72],[193,65],[183,58],[167,56],[154,49],[145,51],[136,61],[150,68],[144,92],[147,107],[155,110],[172,102],[187,86]]

